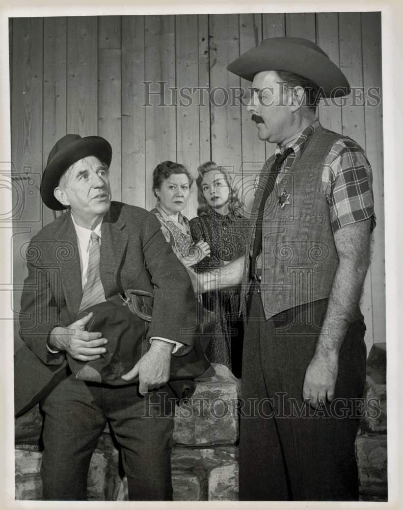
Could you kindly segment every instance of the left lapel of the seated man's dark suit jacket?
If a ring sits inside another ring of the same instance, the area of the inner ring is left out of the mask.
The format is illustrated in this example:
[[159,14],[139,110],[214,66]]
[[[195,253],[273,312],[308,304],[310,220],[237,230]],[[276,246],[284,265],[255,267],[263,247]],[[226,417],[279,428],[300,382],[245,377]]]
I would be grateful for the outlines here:
[[77,237],[70,213],[66,213],[65,221],[53,237],[59,241],[59,256],[56,252],[55,256],[60,264],[60,279],[67,310],[71,322],[74,322],[83,297],[83,288]]

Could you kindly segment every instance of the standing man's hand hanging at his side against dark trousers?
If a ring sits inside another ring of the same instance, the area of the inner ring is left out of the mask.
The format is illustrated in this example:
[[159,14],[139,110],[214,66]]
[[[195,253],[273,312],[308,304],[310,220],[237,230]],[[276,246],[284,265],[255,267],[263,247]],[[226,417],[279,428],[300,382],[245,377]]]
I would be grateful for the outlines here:
[[317,407],[320,400],[326,402],[334,399],[339,355],[335,351],[326,354],[315,352],[305,372],[302,396],[312,407]]

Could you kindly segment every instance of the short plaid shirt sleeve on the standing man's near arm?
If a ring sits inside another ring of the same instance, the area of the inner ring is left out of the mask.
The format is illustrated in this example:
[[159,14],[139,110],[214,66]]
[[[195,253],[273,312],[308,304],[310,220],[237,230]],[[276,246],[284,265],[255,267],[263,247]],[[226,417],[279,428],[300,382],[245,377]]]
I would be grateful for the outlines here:
[[333,233],[367,218],[373,230],[372,170],[364,150],[351,138],[343,137],[333,145],[325,161],[323,185]]

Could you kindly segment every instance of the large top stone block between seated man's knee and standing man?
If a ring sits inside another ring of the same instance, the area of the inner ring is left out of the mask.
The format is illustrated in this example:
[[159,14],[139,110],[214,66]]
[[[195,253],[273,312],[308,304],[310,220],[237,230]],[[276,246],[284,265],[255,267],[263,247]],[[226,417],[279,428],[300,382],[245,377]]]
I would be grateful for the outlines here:
[[235,444],[238,439],[240,381],[227,367],[213,366],[216,375],[197,381],[193,396],[176,407],[173,438],[177,445]]

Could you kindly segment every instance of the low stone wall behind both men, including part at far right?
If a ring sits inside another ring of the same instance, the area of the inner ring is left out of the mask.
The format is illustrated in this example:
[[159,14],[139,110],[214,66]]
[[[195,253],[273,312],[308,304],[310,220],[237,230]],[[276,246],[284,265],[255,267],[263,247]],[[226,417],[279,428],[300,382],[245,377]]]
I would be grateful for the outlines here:
[[[365,409],[356,441],[360,499],[387,500],[386,346],[375,344],[367,362]],[[240,381],[222,365],[216,376],[199,380],[191,401],[177,408],[172,452],[172,483],[176,501],[238,499],[236,401]],[[372,399],[372,400],[370,400]],[[373,400],[377,399],[377,400]],[[374,402],[380,403],[380,412]],[[16,420],[15,497],[41,499],[38,406]],[[102,434],[88,475],[89,500],[127,499],[127,483],[119,471],[119,452],[109,434]]]

